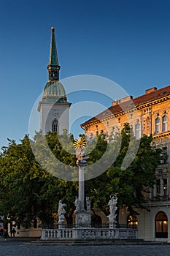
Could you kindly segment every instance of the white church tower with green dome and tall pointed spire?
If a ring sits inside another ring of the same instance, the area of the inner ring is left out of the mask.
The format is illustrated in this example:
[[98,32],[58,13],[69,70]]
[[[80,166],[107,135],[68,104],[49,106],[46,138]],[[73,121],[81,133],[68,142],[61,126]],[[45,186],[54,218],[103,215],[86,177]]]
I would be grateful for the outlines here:
[[39,102],[40,129],[45,135],[47,132],[63,133],[63,129],[69,131],[69,108],[66,91],[59,81],[58,54],[55,43],[55,29],[51,28],[50,60],[47,66],[48,82]]

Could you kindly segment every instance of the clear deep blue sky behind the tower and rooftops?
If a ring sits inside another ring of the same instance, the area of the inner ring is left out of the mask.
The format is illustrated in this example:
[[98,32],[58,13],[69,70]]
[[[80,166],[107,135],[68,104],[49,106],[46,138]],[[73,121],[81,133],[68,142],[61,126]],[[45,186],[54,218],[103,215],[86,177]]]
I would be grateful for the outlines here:
[[99,75],[134,97],[170,84],[169,0],[1,1],[0,147],[28,134],[47,83],[51,26],[61,78]]

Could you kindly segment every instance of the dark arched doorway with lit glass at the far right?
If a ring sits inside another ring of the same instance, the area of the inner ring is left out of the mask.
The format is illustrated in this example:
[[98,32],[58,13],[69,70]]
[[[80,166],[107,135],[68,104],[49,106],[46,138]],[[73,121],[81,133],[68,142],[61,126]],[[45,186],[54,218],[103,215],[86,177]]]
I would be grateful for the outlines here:
[[168,217],[163,211],[155,217],[155,238],[168,238]]

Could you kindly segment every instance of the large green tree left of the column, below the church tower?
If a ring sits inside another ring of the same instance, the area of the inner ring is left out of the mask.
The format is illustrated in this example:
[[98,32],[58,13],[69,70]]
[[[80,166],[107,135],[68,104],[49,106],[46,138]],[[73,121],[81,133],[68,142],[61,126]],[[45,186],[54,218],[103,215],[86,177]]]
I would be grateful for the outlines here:
[[[36,134],[36,140],[41,135]],[[47,141],[55,142],[57,135],[47,135]],[[38,143],[34,140],[34,143]],[[43,146],[43,145],[42,145]],[[56,143],[53,149],[57,151]],[[63,157],[64,158],[64,157]],[[67,157],[65,159],[68,161]],[[68,200],[77,189],[77,184],[64,181],[47,173],[36,162],[28,135],[21,143],[9,140],[0,155],[0,213],[4,219],[14,220],[30,227],[34,218],[43,223],[53,222],[53,212],[58,209],[59,200]],[[70,206],[67,206],[68,209]]]

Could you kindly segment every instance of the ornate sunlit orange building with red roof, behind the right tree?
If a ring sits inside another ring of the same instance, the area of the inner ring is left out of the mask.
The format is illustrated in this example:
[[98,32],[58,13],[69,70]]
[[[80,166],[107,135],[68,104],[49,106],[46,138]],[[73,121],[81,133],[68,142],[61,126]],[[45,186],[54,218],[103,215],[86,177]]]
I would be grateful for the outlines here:
[[[81,127],[88,137],[96,132],[113,135],[131,124],[134,135],[151,135],[165,156],[155,171],[155,187],[150,189],[146,206],[150,211],[137,209],[139,216],[129,216],[126,209],[120,210],[120,222],[137,225],[139,238],[146,241],[170,242],[170,86],[147,89],[145,94],[112,102],[112,106],[90,118]],[[166,157],[168,155],[168,157]]]

